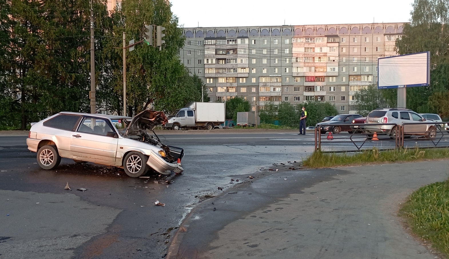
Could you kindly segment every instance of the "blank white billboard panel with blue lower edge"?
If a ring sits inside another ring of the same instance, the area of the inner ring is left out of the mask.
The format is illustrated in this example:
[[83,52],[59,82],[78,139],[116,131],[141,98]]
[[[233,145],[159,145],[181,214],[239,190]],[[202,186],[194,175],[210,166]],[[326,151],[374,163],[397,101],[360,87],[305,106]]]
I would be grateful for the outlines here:
[[428,86],[430,52],[419,52],[378,59],[378,88]]

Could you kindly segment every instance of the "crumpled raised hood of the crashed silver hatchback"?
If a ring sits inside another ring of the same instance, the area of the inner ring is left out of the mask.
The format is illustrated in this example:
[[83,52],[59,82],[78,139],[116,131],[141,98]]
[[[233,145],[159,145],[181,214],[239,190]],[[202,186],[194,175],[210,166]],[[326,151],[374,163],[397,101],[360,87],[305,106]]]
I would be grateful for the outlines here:
[[145,110],[132,118],[125,131],[128,134],[136,134],[141,130],[153,130],[157,125],[165,125],[168,122],[163,112]]

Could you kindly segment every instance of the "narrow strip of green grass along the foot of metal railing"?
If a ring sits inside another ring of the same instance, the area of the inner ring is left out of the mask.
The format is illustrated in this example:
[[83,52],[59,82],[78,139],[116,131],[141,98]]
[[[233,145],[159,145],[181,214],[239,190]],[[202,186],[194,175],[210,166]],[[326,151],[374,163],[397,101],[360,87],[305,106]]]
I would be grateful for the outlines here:
[[449,158],[448,148],[429,149],[401,149],[379,151],[377,148],[368,149],[358,153],[322,153],[313,152],[303,160],[309,168],[335,167],[344,165],[359,165],[372,163],[393,163],[399,161],[416,161],[428,159]]

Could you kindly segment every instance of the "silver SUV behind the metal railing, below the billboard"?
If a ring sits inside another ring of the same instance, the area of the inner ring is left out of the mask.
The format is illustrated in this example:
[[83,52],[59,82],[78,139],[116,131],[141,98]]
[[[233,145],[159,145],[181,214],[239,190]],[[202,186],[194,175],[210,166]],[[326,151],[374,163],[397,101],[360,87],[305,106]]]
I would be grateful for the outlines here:
[[[418,113],[405,108],[379,108],[370,112],[366,117],[365,131],[377,134],[388,134],[390,138],[396,138],[395,125],[372,125],[374,123],[396,123],[403,125],[404,123],[421,123],[426,122],[426,119],[421,117]],[[429,120],[430,122],[430,120]],[[404,135],[426,135],[428,138],[435,138],[436,125],[435,124],[406,124],[404,125]]]

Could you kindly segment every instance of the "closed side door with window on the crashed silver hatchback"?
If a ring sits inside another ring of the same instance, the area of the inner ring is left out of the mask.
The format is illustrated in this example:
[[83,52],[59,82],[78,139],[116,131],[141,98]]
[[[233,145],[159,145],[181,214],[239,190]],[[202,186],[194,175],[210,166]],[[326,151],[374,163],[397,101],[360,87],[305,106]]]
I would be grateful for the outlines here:
[[117,134],[109,120],[84,117],[72,135],[70,150],[74,159],[114,164]]

